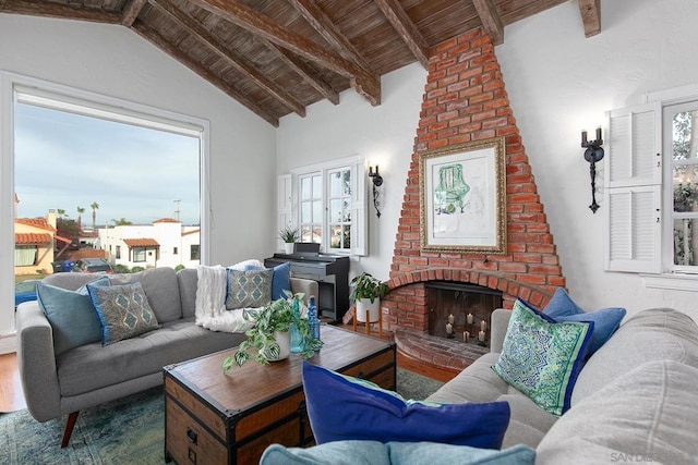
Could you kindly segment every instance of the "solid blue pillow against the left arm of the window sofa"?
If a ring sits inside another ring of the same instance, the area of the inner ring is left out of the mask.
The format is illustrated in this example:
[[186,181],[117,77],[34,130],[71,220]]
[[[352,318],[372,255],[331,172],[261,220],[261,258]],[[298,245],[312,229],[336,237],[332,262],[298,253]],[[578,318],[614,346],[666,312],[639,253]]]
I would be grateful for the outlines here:
[[[109,278],[103,277],[89,284],[108,286]],[[57,356],[80,345],[101,340],[99,320],[86,286],[70,291],[39,282],[36,285],[36,295],[39,307],[51,325],[53,352]]]

